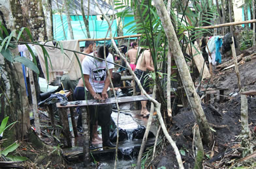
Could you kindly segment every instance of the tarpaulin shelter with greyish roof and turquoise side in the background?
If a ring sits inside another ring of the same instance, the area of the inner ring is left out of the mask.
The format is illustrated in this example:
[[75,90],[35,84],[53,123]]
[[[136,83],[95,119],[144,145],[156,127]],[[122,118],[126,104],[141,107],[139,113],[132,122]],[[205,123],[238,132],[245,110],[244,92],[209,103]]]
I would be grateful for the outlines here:
[[[58,6],[57,6],[58,3]],[[109,36],[108,32],[108,23],[105,20],[97,20],[97,15],[101,15],[98,6],[95,6],[93,1],[89,1],[89,33],[91,38],[105,38]],[[99,0],[99,5],[101,6],[101,10],[106,15],[116,14],[116,10],[112,10],[112,6],[108,5],[104,1]],[[52,9],[59,11],[63,8],[62,0],[54,0],[52,1]],[[63,8],[65,9],[65,8]],[[84,0],[84,10],[85,14],[88,14],[88,1]],[[80,10],[80,1],[74,0],[74,3],[69,4],[69,12],[71,14],[71,26],[74,34],[74,39],[85,39],[87,37],[86,27],[84,25],[84,20],[82,18],[82,12]],[[88,16],[86,16],[88,17]],[[53,14],[53,25],[54,25],[54,39],[56,40],[71,40],[68,25],[67,25],[67,16],[59,14]],[[133,21],[133,17],[125,17],[122,19],[123,25],[126,25],[130,21]],[[135,23],[129,25],[128,27],[123,28],[123,35],[131,35],[134,33],[127,32],[130,27],[135,25]],[[112,23],[112,35],[117,36],[117,21],[114,19]],[[64,34],[65,32],[65,34]],[[108,32],[106,36],[106,32]],[[66,36],[66,37],[65,37]],[[84,46],[84,42],[80,42],[80,46]]]

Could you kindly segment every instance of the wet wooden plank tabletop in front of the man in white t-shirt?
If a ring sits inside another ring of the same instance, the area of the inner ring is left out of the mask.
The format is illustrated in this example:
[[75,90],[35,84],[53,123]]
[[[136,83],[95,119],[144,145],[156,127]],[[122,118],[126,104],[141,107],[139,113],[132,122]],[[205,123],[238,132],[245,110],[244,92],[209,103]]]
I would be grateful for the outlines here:
[[[145,101],[145,100],[148,100],[148,98],[146,96],[126,96],[126,97],[117,98],[117,100],[118,100],[118,103],[129,103],[129,102],[135,102],[135,101]],[[87,105],[108,105],[108,104],[116,103],[116,99],[108,98],[106,99],[106,101],[103,101],[103,102],[99,102],[99,101],[96,101],[95,99],[91,99],[88,101],[82,100],[81,103],[78,105],[75,105],[75,103],[76,101],[69,101],[65,106],[61,106],[60,103],[57,103],[57,107],[67,108],[67,107],[83,107]]]

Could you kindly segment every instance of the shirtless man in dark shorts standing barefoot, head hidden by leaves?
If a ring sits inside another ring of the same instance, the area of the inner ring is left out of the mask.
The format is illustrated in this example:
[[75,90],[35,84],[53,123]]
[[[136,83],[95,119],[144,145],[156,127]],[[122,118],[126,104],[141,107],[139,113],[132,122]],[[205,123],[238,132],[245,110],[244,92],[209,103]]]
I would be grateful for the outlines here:
[[[155,69],[153,68],[153,60],[151,57],[151,53],[150,50],[146,50],[144,51],[140,57],[138,58],[138,62],[136,64],[136,69],[135,69],[135,74],[136,77],[138,77],[138,79],[140,79],[140,83],[142,85],[142,87],[144,88],[144,90],[146,92],[150,91],[150,86],[148,83],[148,80],[145,79],[145,75],[146,75],[146,71],[150,71],[150,72],[154,72]],[[136,84],[136,92],[140,92],[140,88],[138,88],[138,85]],[[144,95],[142,92],[140,92],[141,95]],[[147,101],[140,101],[141,103],[141,111],[140,111],[140,115],[143,117],[147,117],[150,112],[148,112],[147,110]]]

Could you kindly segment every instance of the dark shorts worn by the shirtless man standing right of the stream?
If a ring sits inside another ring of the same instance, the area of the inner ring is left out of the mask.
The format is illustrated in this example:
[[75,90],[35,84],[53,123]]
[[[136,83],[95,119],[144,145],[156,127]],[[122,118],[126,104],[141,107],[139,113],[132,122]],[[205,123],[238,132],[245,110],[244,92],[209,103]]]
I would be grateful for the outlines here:
[[[150,80],[146,77],[147,73],[142,70],[135,70],[136,77],[140,80],[140,83],[146,92],[150,92]],[[136,92],[140,92],[140,88],[136,83]]]

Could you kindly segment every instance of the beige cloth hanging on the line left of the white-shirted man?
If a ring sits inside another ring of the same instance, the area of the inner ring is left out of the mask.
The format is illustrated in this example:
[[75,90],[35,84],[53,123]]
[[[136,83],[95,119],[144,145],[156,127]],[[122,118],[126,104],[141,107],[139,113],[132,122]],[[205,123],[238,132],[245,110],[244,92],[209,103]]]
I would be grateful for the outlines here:
[[[80,51],[78,40],[65,40],[59,41],[63,45],[63,49],[71,49],[74,51]],[[44,43],[41,43],[44,44]],[[53,47],[44,47],[48,52],[50,59],[48,59],[48,70],[49,70],[49,81],[51,83],[56,79],[56,72],[69,72],[69,77],[71,80],[77,80],[82,77],[80,72],[78,60],[76,60],[76,56],[72,51],[64,50],[64,53],[61,53],[61,49],[57,49],[54,47],[52,42],[46,42],[46,45],[50,45]],[[42,48],[40,45],[35,45],[35,49],[37,49],[37,53],[39,56],[39,62],[42,68],[42,72],[44,73],[44,77],[47,80],[46,75],[46,64],[44,62],[44,53],[42,52]],[[52,62],[52,66],[50,64]]]

